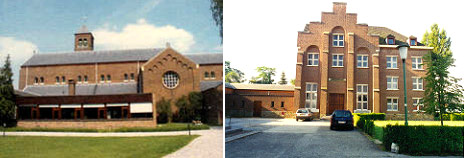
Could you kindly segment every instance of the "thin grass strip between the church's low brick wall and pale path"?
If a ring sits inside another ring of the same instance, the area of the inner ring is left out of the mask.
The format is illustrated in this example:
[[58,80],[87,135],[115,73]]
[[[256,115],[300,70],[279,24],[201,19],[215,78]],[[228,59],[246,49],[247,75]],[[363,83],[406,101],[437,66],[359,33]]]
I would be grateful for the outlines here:
[[[191,130],[210,129],[208,125],[190,125]],[[0,128],[3,130],[2,128]],[[12,127],[6,131],[41,131],[41,132],[166,132],[166,131],[186,131],[188,130],[186,123],[169,123],[158,124],[156,128],[147,127],[132,127],[132,128],[117,128],[117,129],[83,129],[83,128],[22,128]]]

